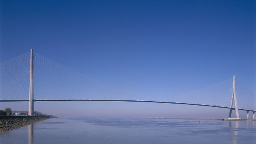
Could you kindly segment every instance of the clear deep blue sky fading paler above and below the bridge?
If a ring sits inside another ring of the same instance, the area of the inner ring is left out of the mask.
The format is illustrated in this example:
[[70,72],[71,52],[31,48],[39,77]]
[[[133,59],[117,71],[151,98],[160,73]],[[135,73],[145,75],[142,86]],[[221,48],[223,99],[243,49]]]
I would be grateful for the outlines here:
[[[0,61],[33,48],[148,99],[163,100],[233,75],[256,93],[255,26],[255,1],[1,0]],[[26,102],[0,103],[6,107],[28,110]],[[218,108],[122,102],[36,102],[34,109],[85,117],[228,115]]]

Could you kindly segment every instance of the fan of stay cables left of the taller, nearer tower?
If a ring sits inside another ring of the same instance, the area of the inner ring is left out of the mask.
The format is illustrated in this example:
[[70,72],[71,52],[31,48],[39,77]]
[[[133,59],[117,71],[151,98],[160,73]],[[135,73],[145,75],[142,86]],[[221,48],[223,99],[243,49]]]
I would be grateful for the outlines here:
[[0,63],[0,100],[29,97],[30,52]]

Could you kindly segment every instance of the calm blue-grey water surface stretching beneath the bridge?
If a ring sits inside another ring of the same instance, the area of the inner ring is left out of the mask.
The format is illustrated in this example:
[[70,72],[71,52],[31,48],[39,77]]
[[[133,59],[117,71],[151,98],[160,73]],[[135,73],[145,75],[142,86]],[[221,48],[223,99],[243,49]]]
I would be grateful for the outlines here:
[[0,134],[0,144],[256,144],[255,122],[51,118]]

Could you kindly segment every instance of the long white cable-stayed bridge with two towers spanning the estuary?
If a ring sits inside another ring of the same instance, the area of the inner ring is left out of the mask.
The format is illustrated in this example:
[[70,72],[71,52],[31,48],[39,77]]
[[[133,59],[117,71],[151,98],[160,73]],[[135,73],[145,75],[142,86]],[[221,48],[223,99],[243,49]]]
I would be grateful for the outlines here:
[[[235,76],[212,86],[180,96],[152,101],[119,90],[31,52],[0,62],[0,102],[29,102],[29,115],[34,115],[36,101],[122,101],[153,102],[210,106],[253,112],[255,94]],[[233,106],[234,103],[234,106]],[[239,106],[239,107],[238,107]]]

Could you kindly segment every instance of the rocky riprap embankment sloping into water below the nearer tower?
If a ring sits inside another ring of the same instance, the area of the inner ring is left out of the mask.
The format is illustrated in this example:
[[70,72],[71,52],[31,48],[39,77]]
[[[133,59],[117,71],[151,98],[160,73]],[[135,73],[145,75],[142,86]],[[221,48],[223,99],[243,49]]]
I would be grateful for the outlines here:
[[42,120],[47,120],[48,116],[33,117],[33,116],[0,116],[0,133],[21,128]]

